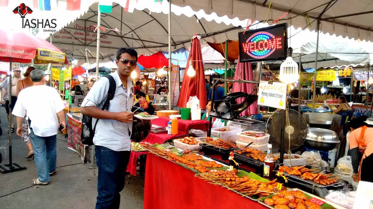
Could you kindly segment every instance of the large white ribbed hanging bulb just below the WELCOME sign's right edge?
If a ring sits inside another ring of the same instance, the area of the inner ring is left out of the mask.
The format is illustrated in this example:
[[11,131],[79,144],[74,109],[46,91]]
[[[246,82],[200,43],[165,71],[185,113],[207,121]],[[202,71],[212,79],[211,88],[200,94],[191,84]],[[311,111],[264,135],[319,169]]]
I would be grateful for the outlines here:
[[299,79],[298,65],[291,57],[293,49],[288,48],[288,57],[280,66],[280,80],[284,83],[294,83]]

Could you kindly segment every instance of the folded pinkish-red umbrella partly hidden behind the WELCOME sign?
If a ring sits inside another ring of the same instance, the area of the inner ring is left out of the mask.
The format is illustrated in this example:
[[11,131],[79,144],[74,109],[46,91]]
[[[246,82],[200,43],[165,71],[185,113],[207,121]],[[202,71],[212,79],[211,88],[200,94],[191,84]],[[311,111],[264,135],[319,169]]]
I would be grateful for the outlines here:
[[[253,75],[253,68],[251,67],[251,62],[240,62],[239,58],[237,58],[237,66],[236,66],[236,72],[235,72],[235,80],[254,80]],[[249,83],[233,83],[232,92],[242,91],[246,92],[248,94],[256,94],[256,91],[254,90],[254,84]],[[240,104],[243,101],[243,98],[237,99],[237,104]],[[257,102],[254,102],[247,108],[245,111],[243,111],[240,116],[249,116],[258,114],[258,106]]]

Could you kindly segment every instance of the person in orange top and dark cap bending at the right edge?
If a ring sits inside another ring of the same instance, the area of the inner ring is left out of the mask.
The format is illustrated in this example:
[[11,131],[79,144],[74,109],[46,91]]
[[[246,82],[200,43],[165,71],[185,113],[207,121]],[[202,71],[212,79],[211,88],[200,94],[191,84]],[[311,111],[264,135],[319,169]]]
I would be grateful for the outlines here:
[[[366,116],[361,116],[350,121],[351,133],[348,141],[354,168],[353,179],[373,182],[373,128],[367,127],[364,122],[366,119]],[[362,154],[361,160],[360,153]]]

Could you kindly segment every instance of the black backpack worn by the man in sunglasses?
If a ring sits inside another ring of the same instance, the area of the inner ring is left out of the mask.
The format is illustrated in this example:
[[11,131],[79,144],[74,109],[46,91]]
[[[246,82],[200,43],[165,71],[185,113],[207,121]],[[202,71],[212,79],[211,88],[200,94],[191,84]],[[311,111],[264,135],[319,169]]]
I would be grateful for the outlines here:
[[[105,100],[105,103],[102,106],[102,110],[108,110],[110,100],[114,98],[115,90],[117,88],[117,85],[115,83],[115,80],[113,76],[111,75],[104,75],[103,77],[106,77],[109,79],[109,90],[107,92],[107,98]],[[82,144],[85,145],[93,145],[93,136],[95,135],[96,125],[99,119],[96,120],[95,126],[92,128],[92,117],[83,115],[82,119],[82,133],[80,134],[80,138],[82,139]]]

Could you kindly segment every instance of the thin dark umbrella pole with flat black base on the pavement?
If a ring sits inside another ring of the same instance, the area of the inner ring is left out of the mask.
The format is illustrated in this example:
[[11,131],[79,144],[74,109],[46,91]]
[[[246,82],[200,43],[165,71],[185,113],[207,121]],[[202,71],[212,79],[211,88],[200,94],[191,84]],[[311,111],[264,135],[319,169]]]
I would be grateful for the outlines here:
[[[9,127],[12,128],[12,58],[9,60]],[[12,132],[9,130],[9,164],[0,165],[0,173],[10,173],[14,171],[24,170],[26,167],[16,163],[12,163]]]

